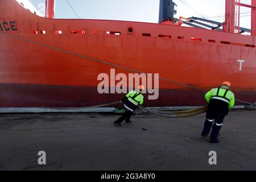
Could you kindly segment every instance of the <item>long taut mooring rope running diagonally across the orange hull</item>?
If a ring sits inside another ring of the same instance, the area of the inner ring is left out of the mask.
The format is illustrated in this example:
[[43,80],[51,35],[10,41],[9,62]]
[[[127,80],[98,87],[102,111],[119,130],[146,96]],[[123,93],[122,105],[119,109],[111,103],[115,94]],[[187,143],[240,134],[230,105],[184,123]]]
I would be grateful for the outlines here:
[[[60,49],[60,48],[57,48],[57,47],[48,46],[48,45],[43,44],[43,43],[35,42],[35,41],[33,41],[33,40],[21,38],[21,37],[16,36],[16,35],[7,34],[7,33],[5,33],[5,32],[0,32],[0,34],[2,34],[2,35],[7,35],[7,36],[11,36],[11,37],[13,37],[13,38],[20,39],[20,40],[24,40],[24,41],[27,41],[27,42],[30,42],[30,43],[38,44],[38,45],[40,45],[40,46],[44,46],[44,47],[56,49],[57,51],[61,51],[61,52],[65,52],[65,53],[70,53],[70,54],[72,54],[72,55],[76,55],[76,56],[79,56],[79,57],[83,57],[83,58],[85,58],[85,59],[90,59],[90,60],[93,60],[93,61],[97,61],[97,62],[99,62],[99,63],[104,63],[104,64],[112,65],[113,67],[118,67],[118,68],[126,69],[126,70],[131,71],[131,72],[135,72],[135,73],[144,73],[144,72],[141,72],[141,71],[137,71],[137,70],[135,70],[135,69],[123,67],[123,66],[118,65],[118,64],[113,64],[113,63],[109,63],[109,62],[106,62],[106,61],[103,61],[103,60],[94,59],[94,58],[92,58],[92,57],[80,55],[79,53],[75,53],[75,52],[71,52],[71,51],[66,51],[66,50],[64,50],[64,49]],[[157,76],[154,76],[154,75],[148,74],[148,73],[144,73],[144,74],[146,74],[147,76],[151,76],[151,77],[154,77],[154,78],[158,78],[159,80],[163,80],[163,81],[167,81],[167,82],[172,82],[173,84],[185,86],[185,87],[192,88],[192,89],[195,89],[195,90],[200,90],[200,91],[202,91],[202,92],[207,92],[207,90],[203,90],[203,89],[197,88],[197,87],[195,87],[195,86],[191,86],[191,85],[183,84],[183,83],[181,83],[181,82],[176,82],[176,81],[168,80],[167,78],[157,77]],[[237,99],[236,99],[236,101],[240,101],[240,102],[243,102],[243,103],[245,103],[245,104],[254,105],[254,104],[252,104],[252,103],[250,103],[250,102],[246,102],[246,101],[241,101],[241,100],[237,100]]]

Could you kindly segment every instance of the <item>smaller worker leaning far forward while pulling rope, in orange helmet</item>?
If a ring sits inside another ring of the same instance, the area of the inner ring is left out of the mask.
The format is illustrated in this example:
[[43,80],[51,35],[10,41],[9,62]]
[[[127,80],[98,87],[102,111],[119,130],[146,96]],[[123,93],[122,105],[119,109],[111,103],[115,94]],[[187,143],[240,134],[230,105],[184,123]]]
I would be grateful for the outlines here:
[[123,100],[120,101],[124,103],[125,113],[123,113],[122,116],[114,122],[115,126],[121,126],[123,120],[125,120],[126,123],[131,123],[130,118],[133,111],[137,109],[138,105],[143,104],[142,90],[145,90],[144,86],[139,85],[137,91],[131,90],[131,92],[127,93]]

